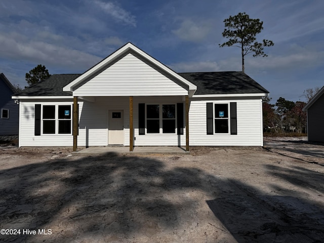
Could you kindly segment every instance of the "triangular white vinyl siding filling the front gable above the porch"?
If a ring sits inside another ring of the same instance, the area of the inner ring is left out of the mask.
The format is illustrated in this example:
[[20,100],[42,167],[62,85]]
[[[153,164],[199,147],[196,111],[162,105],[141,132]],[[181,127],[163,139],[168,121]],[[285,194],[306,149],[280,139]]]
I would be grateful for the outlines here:
[[188,95],[188,91],[128,54],[73,91],[74,96]]

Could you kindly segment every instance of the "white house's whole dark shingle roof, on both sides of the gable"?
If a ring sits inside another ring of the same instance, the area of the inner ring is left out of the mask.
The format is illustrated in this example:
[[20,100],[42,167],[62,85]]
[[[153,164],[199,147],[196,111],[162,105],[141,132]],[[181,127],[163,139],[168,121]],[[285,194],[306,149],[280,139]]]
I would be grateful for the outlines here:
[[[197,86],[195,95],[269,93],[244,72],[187,72],[178,73]],[[82,74],[53,74],[31,85],[18,96],[71,96],[62,89]]]

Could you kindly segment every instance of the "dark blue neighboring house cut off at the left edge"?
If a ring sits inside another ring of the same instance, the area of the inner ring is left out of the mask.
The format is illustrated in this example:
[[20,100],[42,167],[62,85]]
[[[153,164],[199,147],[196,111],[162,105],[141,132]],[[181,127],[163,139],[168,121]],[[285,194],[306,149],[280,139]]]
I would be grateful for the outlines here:
[[0,74],[0,136],[18,135],[19,105],[11,96],[16,93],[15,87],[9,82],[5,74]]

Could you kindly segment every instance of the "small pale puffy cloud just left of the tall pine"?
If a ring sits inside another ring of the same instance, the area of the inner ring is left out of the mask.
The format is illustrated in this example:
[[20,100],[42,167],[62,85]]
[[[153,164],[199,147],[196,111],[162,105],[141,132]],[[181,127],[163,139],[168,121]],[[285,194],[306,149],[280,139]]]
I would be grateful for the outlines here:
[[172,32],[180,39],[189,42],[201,42],[210,33],[211,25],[208,22],[193,22],[189,19],[182,21],[178,29]]

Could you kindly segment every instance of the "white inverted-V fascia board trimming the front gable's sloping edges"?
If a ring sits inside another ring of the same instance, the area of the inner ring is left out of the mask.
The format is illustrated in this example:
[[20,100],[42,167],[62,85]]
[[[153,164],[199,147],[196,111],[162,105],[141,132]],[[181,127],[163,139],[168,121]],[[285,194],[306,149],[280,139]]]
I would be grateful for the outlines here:
[[136,46],[134,46],[131,43],[127,43],[125,46],[121,47],[120,49],[118,49],[117,51],[115,51],[114,53],[112,53],[110,56],[108,56],[106,59],[102,60],[101,62],[99,62],[97,65],[95,65],[93,68],[89,69],[87,72],[85,72],[84,74],[82,74],[81,76],[77,77],[76,79],[74,79],[70,84],[66,85],[65,87],[63,87],[63,91],[73,91],[73,87],[75,85],[77,85],[78,83],[82,82],[83,80],[87,79],[88,77],[90,77],[95,71],[100,70],[102,67],[104,67],[107,63],[109,63],[110,61],[114,60],[115,58],[117,58],[118,56],[122,55],[123,53],[127,52],[128,50],[132,50],[134,52],[136,52],[137,54],[141,55],[142,57],[146,58],[147,60],[149,60],[151,63],[153,63],[154,65],[156,65],[157,67],[161,68],[162,70],[168,72],[169,74],[173,75],[174,77],[176,77],[177,79],[179,79],[181,82],[185,83],[186,85],[189,86],[189,90],[197,90],[197,86],[193,85],[192,83],[190,83],[187,79],[183,78],[182,76],[180,76],[178,73],[174,72],[173,70],[171,70],[169,67],[167,67],[166,65],[160,63],[159,61],[157,61],[156,59],[152,58],[150,55],[148,55],[147,53],[143,52],[142,50],[140,50],[139,48],[137,48]]

